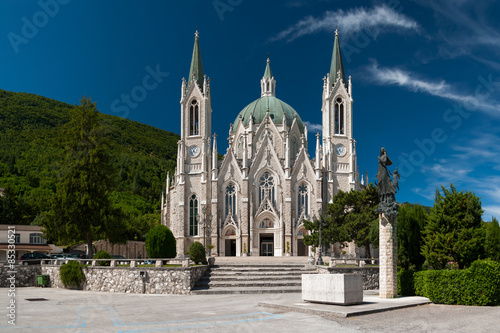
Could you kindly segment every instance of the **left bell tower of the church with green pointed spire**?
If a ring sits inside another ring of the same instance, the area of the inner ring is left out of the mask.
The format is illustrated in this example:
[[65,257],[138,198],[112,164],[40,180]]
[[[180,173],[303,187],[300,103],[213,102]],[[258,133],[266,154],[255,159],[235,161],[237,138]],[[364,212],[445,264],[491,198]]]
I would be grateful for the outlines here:
[[[204,245],[211,214],[212,107],[210,79],[203,73],[199,33],[196,30],[188,79],[181,85],[181,139],[177,147],[175,193],[170,193],[172,225],[177,253],[185,253],[191,243]],[[215,162],[217,162],[215,160]],[[172,201],[173,200],[173,201]]]

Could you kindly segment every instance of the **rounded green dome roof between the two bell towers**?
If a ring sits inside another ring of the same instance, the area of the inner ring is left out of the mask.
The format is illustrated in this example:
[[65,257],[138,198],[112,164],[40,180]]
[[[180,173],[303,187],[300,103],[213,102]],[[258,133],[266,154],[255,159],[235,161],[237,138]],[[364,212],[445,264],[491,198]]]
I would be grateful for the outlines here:
[[238,117],[236,117],[236,120],[233,124],[233,131],[236,131],[236,128],[238,127],[240,117],[243,121],[244,127],[247,127],[250,123],[251,116],[253,116],[254,124],[260,124],[266,116],[268,107],[269,115],[276,125],[283,124],[283,114],[285,115],[286,125],[288,127],[292,126],[293,119],[297,117],[297,125],[299,125],[300,133],[304,133],[304,124],[302,123],[302,119],[300,119],[297,111],[295,111],[290,105],[274,96],[263,96],[248,104],[243,110],[241,110]]

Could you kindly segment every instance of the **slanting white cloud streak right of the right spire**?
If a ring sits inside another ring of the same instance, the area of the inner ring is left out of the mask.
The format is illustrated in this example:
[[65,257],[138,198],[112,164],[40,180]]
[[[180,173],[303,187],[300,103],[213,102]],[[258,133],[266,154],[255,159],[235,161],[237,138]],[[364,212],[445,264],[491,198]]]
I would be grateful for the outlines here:
[[[417,77],[417,75],[399,69],[382,68],[373,61],[368,67],[371,78],[379,84],[396,85],[404,87],[414,92],[423,92],[432,96],[445,98],[467,106],[467,109],[479,109],[491,115],[500,116],[500,104],[495,101],[488,101],[467,93],[457,92],[450,84],[444,80],[431,81]],[[476,94],[477,95],[477,94]]]

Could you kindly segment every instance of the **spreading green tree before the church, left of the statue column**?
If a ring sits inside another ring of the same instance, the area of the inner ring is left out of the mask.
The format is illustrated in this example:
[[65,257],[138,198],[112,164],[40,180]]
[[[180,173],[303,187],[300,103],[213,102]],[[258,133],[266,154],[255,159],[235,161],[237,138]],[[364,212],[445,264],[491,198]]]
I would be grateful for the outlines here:
[[[370,184],[363,191],[339,191],[327,205],[326,212],[320,217],[324,227],[321,229],[321,242],[334,244],[354,241],[365,246],[366,256],[370,257],[370,244],[378,244],[378,190]],[[318,221],[304,221],[304,227],[312,231],[304,236],[304,244],[317,246],[319,242]]]

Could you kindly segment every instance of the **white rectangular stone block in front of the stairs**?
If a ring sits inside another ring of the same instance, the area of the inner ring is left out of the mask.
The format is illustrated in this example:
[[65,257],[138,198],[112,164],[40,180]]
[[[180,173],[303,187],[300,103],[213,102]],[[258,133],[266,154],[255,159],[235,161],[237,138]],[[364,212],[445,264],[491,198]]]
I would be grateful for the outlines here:
[[363,276],[355,274],[302,274],[302,299],[329,304],[363,302]]

